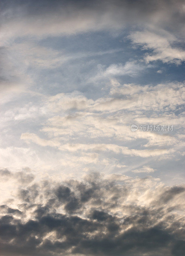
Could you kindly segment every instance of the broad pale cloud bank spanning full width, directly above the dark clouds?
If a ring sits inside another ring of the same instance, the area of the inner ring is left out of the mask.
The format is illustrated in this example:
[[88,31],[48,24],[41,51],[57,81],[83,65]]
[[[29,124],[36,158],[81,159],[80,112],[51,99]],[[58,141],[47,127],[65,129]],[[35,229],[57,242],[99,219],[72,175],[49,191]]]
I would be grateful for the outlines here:
[[[140,162],[143,158],[179,159],[183,152],[183,87],[178,82],[139,85],[114,79],[107,95],[98,99],[81,92],[58,93],[2,110],[1,138],[6,140],[0,149],[1,166],[28,166],[38,172],[58,168],[64,175],[67,169],[76,177],[96,168],[132,171],[145,165]],[[174,131],[132,132],[131,124],[169,124]],[[12,132],[17,136],[14,140]],[[130,158],[139,163],[125,168]]]

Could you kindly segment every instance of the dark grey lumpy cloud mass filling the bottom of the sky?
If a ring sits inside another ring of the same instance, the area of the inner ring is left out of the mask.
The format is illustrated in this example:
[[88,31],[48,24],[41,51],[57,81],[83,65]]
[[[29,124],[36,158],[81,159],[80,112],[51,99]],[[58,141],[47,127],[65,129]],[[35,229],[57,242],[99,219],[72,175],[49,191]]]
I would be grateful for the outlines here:
[[[145,182],[155,186],[155,194]],[[140,190],[148,194],[147,204],[139,203]],[[181,214],[174,215],[181,211],[182,186],[161,187],[151,177],[115,181],[94,173],[84,181],[32,182],[17,193],[17,208],[0,207],[2,256],[183,255],[184,222]]]

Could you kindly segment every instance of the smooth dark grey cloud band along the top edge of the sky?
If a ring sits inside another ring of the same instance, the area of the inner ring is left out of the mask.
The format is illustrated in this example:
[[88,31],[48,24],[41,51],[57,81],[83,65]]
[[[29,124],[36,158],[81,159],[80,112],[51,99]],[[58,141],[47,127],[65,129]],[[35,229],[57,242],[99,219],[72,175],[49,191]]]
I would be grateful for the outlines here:
[[73,34],[146,22],[177,31],[183,24],[182,4],[181,0],[2,1],[1,20],[3,29],[8,24],[20,35]]

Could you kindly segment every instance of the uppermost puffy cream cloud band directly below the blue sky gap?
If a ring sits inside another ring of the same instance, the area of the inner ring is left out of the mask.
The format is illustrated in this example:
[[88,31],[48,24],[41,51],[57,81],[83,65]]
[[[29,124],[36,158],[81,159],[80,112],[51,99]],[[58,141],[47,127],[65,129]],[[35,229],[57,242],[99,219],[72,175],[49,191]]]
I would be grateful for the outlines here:
[[[157,85],[123,84],[112,82],[110,95],[97,100],[87,99],[79,92],[58,93],[46,100],[46,106],[53,112],[75,109],[115,112],[121,109],[170,110],[184,102],[184,83]],[[124,97],[127,95],[127,97]],[[121,97],[122,96],[122,97]],[[176,99],[176,100],[175,100]]]

